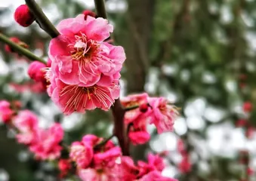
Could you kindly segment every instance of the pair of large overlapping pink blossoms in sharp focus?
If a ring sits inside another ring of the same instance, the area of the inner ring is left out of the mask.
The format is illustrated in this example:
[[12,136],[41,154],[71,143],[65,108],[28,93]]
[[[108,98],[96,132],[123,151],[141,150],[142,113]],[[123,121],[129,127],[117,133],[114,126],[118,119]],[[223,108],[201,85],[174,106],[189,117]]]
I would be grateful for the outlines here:
[[108,110],[119,97],[119,78],[125,51],[105,42],[113,26],[84,14],[60,21],[60,35],[49,44],[51,82],[48,94],[64,114],[86,109]]

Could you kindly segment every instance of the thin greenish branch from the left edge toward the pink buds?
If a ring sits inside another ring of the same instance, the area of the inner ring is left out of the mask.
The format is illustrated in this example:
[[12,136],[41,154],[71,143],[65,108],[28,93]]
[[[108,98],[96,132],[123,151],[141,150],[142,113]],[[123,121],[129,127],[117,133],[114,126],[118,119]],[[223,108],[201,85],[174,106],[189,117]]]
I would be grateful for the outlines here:
[[17,53],[22,54],[23,56],[29,58],[30,60],[37,60],[42,63],[46,63],[45,60],[43,60],[40,57],[35,56],[35,54],[32,54],[31,51],[28,51],[26,48],[21,47],[20,45],[14,43],[11,41],[7,36],[0,33],[0,41],[5,42],[5,44],[8,44],[11,48],[13,48]]

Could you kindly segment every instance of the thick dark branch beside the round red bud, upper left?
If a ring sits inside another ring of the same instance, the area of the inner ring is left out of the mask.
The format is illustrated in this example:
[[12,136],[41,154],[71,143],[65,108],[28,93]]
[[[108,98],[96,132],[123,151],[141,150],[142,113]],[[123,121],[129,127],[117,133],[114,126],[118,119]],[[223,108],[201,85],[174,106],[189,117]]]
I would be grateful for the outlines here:
[[45,16],[42,9],[39,5],[36,4],[34,0],[25,0],[26,5],[29,7],[29,10],[34,14],[35,19],[39,23],[39,26],[51,36],[51,38],[56,38],[60,35],[60,32],[55,28],[55,26],[51,23],[48,17]]

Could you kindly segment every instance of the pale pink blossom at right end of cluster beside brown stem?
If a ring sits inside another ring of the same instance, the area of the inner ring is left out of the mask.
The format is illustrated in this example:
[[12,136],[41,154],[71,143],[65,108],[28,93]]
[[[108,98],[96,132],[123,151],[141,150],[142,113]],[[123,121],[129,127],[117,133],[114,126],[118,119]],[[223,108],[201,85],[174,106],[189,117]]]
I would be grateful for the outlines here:
[[174,106],[168,104],[164,97],[153,97],[149,99],[153,111],[150,114],[151,124],[155,124],[158,133],[173,130],[174,120],[178,112]]

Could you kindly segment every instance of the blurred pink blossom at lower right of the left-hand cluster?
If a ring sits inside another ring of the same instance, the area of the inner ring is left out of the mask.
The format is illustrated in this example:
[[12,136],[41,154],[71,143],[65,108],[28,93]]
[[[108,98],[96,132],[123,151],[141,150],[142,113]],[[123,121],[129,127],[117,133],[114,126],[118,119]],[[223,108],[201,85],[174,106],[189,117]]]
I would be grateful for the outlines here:
[[54,123],[49,129],[37,128],[35,130],[35,140],[29,146],[29,150],[35,153],[35,158],[39,160],[54,160],[60,157],[63,140],[63,128],[59,123]]

